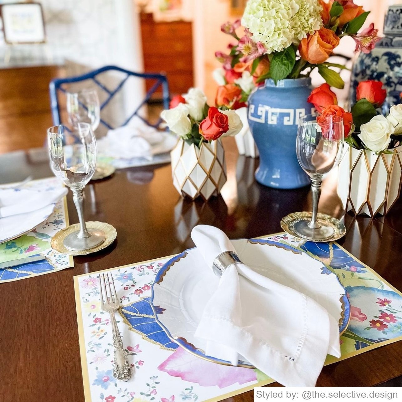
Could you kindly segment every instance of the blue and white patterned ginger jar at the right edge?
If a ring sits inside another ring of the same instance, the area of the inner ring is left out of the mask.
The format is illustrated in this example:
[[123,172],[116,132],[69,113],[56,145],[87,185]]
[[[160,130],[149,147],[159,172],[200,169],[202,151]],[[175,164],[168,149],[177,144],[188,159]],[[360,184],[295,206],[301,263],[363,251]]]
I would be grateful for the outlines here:
[[361,52],[353,66],[349,100],[356,102],[359,82],[377,80],[384,84],[387,98],[382,113],[387,115],[392,105],[402,102],[402,4],[390,6],[384,21],[384,37],[369,53]]

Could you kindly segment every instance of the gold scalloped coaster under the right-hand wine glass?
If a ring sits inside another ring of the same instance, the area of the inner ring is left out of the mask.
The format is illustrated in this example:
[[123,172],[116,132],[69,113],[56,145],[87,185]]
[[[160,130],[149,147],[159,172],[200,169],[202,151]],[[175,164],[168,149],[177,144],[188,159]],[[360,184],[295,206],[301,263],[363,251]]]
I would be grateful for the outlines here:
[[[297,222],[299,221],[310,221],[312,217],[312,212],[295,212],[291,213],[287,216],[285,216],[281,220],[281,228],[285,230],[285,232],[289,233],[292,236],[295,236],[297,238],[300,238],[299,235],[297,235],[294,231],[294,226]],[[314,238],[309,238],[305,237],[305,240],[310,240],[312,242],[322,242],[322,243],[327,243],[327,242],[334,242],[335,240],[340,239],[341,237],[345,236],[346,233],[346,228],[345,225],[340,222],[339,219],[336,219],[330,215],[325,215],[324,213],[319,213],[317,216],[318,222],[322,222],[328,226],[331,226],[331,228],[334,229],[334,235],[325,240],[317,240]]]

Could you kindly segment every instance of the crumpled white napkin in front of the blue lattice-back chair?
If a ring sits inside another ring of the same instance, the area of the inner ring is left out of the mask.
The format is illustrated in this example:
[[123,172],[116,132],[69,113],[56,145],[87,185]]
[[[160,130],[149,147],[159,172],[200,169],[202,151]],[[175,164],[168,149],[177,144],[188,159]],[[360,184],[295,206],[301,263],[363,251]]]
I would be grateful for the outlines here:
[[109,130],[97,140],[98,152],[117,159],[152,159],[152,146],[162,142],[163,133],[145,123]]

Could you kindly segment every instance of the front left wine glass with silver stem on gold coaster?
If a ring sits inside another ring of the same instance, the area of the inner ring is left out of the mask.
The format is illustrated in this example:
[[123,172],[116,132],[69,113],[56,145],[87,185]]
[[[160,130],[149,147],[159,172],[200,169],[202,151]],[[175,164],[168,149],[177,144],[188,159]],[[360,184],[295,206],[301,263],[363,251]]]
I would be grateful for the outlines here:
[[80,222],[80,230],[66,236],[64,246],[73,251],[98,246],[105,241],[105,232],[88,230],[82,209],[82,191],[94,174],[96,165],[96,142],[92,128],[88,123],[77,123],[73,130],[58,125],[47,130],[47,139],[51,170],[72,190]]

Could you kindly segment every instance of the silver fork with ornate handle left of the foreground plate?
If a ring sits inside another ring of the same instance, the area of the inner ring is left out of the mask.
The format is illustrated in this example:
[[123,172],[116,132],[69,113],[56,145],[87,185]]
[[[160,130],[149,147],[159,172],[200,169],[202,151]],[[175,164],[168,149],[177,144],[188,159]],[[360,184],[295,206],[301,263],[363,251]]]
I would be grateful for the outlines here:
[[[111,280],[109,279],[109,273],[106,273],[107,279],[105,279],[105,274],[102,274],[102,276],[99,274],[98,276],[100,287],[100,306],[103,311],[110,314],[110,319],[112,322],[113,347],[115,348],[113,377],[120,381],[127,381],[131,377],[133,369],[130,367],[127,359],[127,353],[123,349],[123,341],[121,340],[120,331],[117,327],[115,318],[115,311],[119,308],[119,300],[117,299],[115,282],[113,281],[112,274],[110,274]],[[110,284],[112,284],[113,292]],[[102,287],[105,289],[105,298],[103,297]]]

